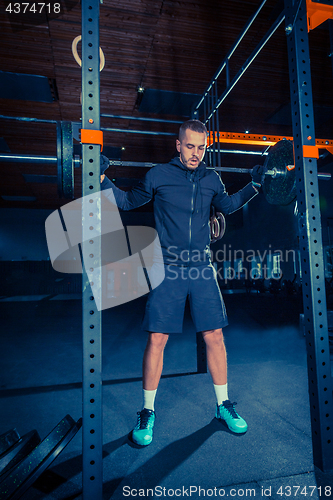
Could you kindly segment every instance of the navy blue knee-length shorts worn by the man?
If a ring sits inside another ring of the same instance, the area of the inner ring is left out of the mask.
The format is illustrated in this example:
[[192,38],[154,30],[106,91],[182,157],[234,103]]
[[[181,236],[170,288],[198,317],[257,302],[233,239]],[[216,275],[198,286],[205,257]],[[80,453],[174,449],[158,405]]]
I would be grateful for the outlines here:
[[227,313],[214,266],[167,265],[163,282],[149,293],[143,329],[159,333],[182,332],[187,297],[197,332],[227,326]]

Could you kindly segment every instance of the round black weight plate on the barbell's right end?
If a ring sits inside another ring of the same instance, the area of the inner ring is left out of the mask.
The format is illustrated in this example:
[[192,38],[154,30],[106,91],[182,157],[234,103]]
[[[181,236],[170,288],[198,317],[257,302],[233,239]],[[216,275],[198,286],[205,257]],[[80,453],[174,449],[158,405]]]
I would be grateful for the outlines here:
[[288,205],[296,198],[295,168],[287,170],[287,165],[294,164],[293,143],[286,139],[277,142],[268,153],[265,167],[276,169],[273,177],[266,175],[262,186],[266,200],[271,205]]

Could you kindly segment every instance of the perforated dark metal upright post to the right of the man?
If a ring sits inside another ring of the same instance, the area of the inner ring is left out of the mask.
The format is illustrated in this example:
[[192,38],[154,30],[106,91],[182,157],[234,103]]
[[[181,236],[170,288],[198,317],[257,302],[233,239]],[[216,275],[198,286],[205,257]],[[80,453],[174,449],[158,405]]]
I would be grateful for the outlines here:
[[314,465],[333,469],[333,400],[306,0],[285,0]]

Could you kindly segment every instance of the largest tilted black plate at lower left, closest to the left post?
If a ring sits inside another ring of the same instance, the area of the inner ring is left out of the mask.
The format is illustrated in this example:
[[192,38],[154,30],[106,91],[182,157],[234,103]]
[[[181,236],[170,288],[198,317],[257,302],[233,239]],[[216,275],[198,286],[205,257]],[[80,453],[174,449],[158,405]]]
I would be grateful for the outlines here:
[[47,469],[81,427],[66,415],[48,436],[0,483],[1,500],[17,500]]

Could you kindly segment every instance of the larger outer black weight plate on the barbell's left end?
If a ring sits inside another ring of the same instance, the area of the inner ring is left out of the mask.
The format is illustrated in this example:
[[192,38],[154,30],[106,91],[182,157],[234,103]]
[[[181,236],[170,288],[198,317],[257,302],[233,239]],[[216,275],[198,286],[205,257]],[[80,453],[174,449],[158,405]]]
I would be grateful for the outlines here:
[[65,198],[74,198],[73,132],[72,122],[61,123],[62,191]]

